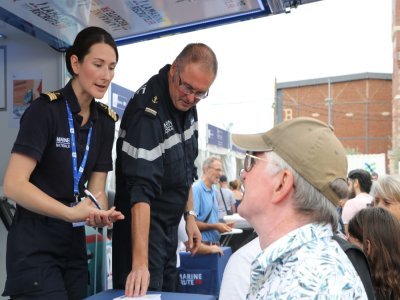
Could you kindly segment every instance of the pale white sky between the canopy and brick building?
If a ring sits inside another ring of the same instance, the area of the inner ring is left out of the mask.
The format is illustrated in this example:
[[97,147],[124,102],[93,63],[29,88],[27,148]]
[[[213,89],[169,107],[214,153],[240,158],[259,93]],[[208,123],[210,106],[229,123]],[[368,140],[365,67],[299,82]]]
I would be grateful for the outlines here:
[[199,123],[234,133],[273,126],[275,80],[392,73],[392,0],[322,0],[279,14],[119,47],[113,82],[136,90],[188,43],[217,55]]

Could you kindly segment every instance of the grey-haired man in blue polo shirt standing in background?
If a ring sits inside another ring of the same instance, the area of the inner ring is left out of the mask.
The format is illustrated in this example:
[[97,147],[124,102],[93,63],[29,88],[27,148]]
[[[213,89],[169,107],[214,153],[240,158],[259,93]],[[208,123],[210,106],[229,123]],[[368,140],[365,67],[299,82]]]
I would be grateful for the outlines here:
[[218,245],[221,233],[232,231],[232,227],[218,219],[217,190],[222,173],[221,160],[211,156],[203,162],[203,175],[193,184],[194,211],[197,226],[201,231],[202,242]]

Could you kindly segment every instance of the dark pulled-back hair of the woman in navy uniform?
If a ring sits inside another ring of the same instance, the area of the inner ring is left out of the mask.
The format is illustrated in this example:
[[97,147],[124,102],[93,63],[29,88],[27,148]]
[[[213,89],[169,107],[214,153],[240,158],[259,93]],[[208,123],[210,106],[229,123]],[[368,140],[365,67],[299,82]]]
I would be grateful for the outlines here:
[[76,55],[79,62],[82,62],[86,54],[89,53],[90,47],[95,44],[107,44],[114,49],[118,61],[118,49],[112,36],[100,27],[87,27],[83,29],[75,38],[74,44],[68,48],[65,55],[65,63],[67,70],[72,77],[75,76],[71,66],[71,56]]

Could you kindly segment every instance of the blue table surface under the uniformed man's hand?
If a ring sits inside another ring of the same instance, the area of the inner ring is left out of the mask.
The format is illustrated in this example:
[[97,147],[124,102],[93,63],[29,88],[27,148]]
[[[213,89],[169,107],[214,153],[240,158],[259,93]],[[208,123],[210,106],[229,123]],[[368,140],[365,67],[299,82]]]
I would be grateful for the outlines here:
[[[86,300],[112,300],[124,294],[123,290],[106,290],[86,298]],[[162,300],[216,300],[213,295],[199,295],[186,293],[147,292],[147,294],[161,294]]]

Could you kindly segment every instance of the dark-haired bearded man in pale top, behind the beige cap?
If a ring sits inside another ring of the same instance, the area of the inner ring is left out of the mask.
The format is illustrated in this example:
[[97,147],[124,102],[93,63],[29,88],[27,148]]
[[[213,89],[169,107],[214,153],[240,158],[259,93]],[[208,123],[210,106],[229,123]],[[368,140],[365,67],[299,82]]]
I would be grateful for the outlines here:
[[342,209],[342,220],[347,234],[347,224],[350,219],[361,209],[372,203],[369,194],[372,186],[371,174],[362,169],[351,170],[347,176],[349,185],[349,199]]

